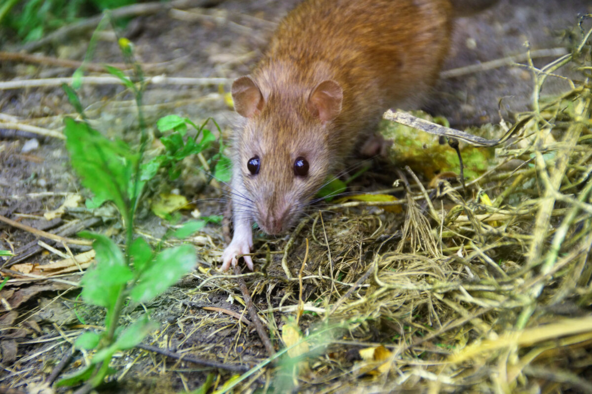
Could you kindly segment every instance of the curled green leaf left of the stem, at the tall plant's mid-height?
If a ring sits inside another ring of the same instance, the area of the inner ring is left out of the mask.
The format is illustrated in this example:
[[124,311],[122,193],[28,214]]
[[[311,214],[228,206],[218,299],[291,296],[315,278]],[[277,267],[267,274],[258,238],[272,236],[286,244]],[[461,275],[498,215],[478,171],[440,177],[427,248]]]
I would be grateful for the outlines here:
[[121,285],[133,278],[121,250],[113,241],[101,234],[81,232],[79,236],[92,238],[96,266],[86,270],[82,277],[82,298],[92,305],[109,308],[115,304]]

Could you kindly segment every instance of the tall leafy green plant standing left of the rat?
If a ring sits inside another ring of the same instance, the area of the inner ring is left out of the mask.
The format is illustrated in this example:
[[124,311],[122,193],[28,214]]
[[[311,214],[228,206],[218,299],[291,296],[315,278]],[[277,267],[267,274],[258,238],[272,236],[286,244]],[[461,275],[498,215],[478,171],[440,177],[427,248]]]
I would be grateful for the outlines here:
[[[131,46],[127,40],[120,40],[120,46],[126,58],[131,59]],[[81,280],[82,299],[85,303],[107,309],[105,330],[100,333],[86,331],[76,340],[76,348],[95,353],[85,368],[60,380],[57,386],[86,382],[86,385],[96,387],[104,382],[105,377],[114,372],[109,364],[115,352],[134,347],[154,328],[146,315],[126,328],[120,327],[120,315],[126,300],[138,303],[149,301],[173,285],[196,263],[192,246],[154,251],[143,238],[134,239],[134,214],[144,185],[150,179],[143,172],[145,167],[141,166],[147,140],[141,113],[144,84],[138,67],[134,75],[136,82],[114,67],[107,67],[107,71],[119,77],[123,85],[134,93],[140,117],[139,149],[133,150],[121,140],[108,140],[90,127],[84,120],[76,92],[69,86],[63,88],[83,120],[66,118],[64,134],[72,167],[81,177],[82,185],[94,193],[95,204],[111,201],[117,206],[123,218],[126,238],[122,249],[105,235],[80,234],[93,240],[96,253],[95,266],[88,269]],[[177,230],[175,235],[189,234],[203,225],[205,221],[186,224],[180,229],[184,231]]]

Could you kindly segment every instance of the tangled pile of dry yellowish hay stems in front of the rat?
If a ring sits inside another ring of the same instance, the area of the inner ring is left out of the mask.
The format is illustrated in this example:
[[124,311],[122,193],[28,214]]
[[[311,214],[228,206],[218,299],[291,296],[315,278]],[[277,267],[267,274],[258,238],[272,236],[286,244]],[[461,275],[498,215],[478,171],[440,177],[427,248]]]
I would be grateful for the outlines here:
[[[289,356],[271,374],[259,359],[226,388],[592,392],[589,38],[531,64],[535,108],[501,125],[511,138],[465,189],[408,170],[401,201],[337,201],[287,243],[259,241],[247,284]],[[581,79],[540,98],[569,62]],[[236,288],[201,279],[200,291]]]

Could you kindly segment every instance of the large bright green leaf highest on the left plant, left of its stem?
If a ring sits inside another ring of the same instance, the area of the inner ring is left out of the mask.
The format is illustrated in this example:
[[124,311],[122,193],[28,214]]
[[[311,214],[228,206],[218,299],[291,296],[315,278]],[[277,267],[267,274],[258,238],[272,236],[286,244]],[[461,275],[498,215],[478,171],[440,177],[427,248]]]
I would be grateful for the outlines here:
[[110,141],[84,122],[65,118],[66,148],[82,185],[97,199],[111,200],[122,214],[128,209],[128,183],[137,154],[121,142]]

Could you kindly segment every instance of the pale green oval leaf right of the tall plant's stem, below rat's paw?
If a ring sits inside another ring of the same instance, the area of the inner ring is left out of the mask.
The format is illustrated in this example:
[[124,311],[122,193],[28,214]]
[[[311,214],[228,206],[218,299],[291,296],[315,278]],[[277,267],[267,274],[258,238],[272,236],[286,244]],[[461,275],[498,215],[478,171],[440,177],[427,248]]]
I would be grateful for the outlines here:
[[131,299],[138,302],[149,301],[177,282],[184,273],[192,270],[196,263],[195,250],[190,245],[163,250],[131,289]]

